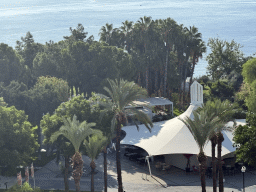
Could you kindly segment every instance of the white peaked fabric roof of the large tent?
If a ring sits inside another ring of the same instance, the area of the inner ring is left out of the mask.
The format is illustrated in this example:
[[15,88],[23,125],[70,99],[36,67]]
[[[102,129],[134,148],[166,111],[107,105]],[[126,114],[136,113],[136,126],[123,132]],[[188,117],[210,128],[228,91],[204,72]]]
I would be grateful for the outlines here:
[[[179,117],[188,116],[193,118],[192,111],[198,106],[190,105],[190,107]],[[232,122],[229,122],[231,124]],[[245,124],[245,120],[237,120],[237,124]],[[198,154],[199,148],[190,133],[187,126],[178,119],[178,117],[154,123],[152,132],[150,133],[144,125],[139,126],[139,132],[136,126],[125,126],[122,129],[126,132],[126,137],[121,144],[130,144],[143,148],[149,155],[164,154]],[[225,140],[222,145],[222,155],[235,151],[232,146],[232,133],[223,132]],[[211,143],[208,142],[205,154],[211,156]]]

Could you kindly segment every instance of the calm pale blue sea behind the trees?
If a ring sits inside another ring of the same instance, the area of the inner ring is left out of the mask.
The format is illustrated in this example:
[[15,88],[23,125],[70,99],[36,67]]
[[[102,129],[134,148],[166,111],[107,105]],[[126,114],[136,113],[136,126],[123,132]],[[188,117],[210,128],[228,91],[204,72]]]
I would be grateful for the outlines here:
[[[35,42],[58,42],[81,23],[99,40],[106,23],[118,28],[125,20],[140,17],[174,19],[195,26],[207,44],[209,38],[235,40],[246,56],[256,53],[255,0],[0,0],[0,43],[15,47],[29,31]],[[207,52],[198,62],[194,77],[207,74]],[[1,70],[1,69],[0,69]]]

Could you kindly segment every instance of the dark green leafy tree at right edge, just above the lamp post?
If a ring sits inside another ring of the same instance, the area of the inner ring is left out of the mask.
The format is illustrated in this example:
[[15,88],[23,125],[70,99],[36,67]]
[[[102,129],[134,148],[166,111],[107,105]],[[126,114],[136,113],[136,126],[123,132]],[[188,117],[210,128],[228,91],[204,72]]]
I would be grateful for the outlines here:
[[248,112],[246,121],[248,125],[239,125],[235,132],[233,141],[234,146],[240,145],[235,154],[237,161],[242,161],[250,166],[256,167],[256,115]]

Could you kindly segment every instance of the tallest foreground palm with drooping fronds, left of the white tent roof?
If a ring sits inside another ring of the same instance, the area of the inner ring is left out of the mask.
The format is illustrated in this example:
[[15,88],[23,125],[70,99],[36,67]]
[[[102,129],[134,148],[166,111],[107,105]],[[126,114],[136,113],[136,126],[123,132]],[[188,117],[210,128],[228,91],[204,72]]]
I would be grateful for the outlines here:
[[[147,96],[147,91],[141,87],[139,87],[134,82],[129,82],[123,79],[120,81],[110,80],[108,79],[110,87],[104,87],[104,90],[108,93],[110,98],[107,96],[101,95],[106,100],[109,100],[112,107],[112,111],[114,113],[111,127],[112,133],[116,130],[116,167],[117,167],[117,180],[118,180],[118,192],[123,192],[123,184],[122,184],[122,173],[121,173],[121,161],[120,161],[120,136],[121,136],[121,128],[122,124],[127,120],[127,116],[133,120],[138,120],[142,122],[147,129],[151,132],[151,128],[153,124],[144,112],[136,109],[136,104],[134,101],[145,98]],[[130,108],[126,108],[127,106],[131,106]],[[132,115],[131,115],[132,114]],[[136,122],[136,121],[134,121]],[[139,126],[136,124],[137,129],[139,130]]]

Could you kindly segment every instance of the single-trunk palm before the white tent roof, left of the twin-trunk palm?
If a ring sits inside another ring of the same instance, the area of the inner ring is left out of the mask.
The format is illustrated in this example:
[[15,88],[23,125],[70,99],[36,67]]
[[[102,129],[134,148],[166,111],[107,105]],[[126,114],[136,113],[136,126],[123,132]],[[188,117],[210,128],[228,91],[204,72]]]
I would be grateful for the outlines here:
[[202,192],[206,192],[205,167],[207,157],[203,150],[208,143],[209,138],[214,135],[216,128],[221,127],[222,123],[218,117],[214,117],[213,115],[209,116],[206,110],[201,110],[200,112],[193,111],[193,115],[194,120],[189,117],[179,119],[188,127],[199,147],[199,154],[197,158],[200,165],[201,186]]

